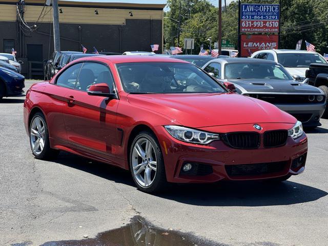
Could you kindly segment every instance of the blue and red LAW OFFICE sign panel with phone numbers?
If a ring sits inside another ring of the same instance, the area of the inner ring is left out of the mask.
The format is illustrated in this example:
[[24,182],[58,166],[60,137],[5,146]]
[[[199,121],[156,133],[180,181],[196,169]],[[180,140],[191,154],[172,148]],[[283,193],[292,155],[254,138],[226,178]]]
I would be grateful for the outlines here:
[[241,4],[240,7],[240,32],[279,32],[279,4]]

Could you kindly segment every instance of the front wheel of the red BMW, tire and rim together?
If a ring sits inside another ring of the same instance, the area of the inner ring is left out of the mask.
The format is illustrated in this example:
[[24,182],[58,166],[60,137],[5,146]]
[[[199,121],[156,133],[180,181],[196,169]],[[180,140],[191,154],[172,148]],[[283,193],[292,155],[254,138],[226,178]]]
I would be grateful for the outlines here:
[[155,193],[167,186],[161,149],[152,132],[137,134],[130,148],[129,159],[132,178],[139,190]]

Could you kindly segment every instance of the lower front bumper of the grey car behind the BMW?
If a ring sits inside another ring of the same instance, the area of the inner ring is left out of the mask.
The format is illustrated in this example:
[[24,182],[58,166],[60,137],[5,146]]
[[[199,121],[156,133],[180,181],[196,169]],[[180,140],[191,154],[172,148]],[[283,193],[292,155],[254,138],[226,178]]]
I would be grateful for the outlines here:
[[326,104],[276,104],[279,109],[293,115],[302,122],[303,127],[321,126],[320,118],[324,113]]

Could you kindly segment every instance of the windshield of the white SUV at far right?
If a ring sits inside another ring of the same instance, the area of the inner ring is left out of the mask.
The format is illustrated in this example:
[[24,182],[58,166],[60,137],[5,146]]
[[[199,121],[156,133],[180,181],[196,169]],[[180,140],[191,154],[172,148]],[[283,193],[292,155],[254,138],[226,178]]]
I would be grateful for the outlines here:
[[286,68],[308,68],[311,63],[327,63],[318,54],[282,53],[277,54],[278,63]]

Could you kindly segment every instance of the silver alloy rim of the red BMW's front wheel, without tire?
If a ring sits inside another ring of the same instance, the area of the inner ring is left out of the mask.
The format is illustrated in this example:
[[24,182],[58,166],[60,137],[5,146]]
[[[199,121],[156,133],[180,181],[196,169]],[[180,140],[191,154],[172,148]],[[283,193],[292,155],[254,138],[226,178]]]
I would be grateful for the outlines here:
[[132,150],[133,175],[141,187],[152,185],[157,170],[154,146],[146,137],[139,138]]

